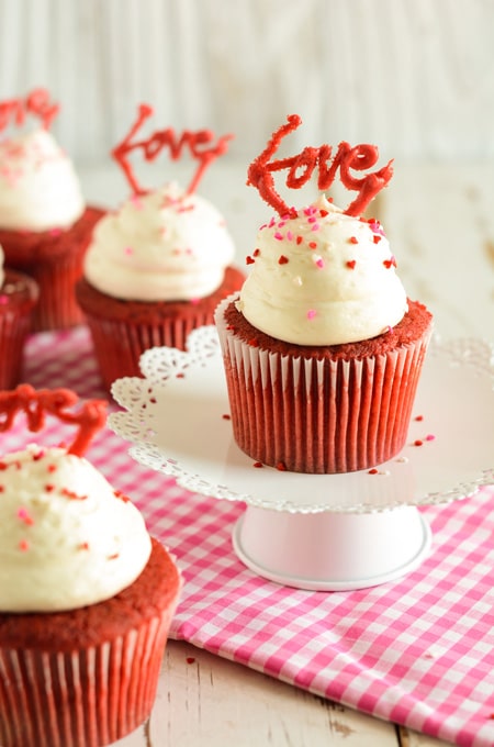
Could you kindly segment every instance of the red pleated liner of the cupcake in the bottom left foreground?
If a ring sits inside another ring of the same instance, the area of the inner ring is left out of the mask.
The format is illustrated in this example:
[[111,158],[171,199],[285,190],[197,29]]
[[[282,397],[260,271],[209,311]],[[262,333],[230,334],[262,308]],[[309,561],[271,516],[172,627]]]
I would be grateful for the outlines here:
[[83,650],[0,646],[2,747],[102,747],[137,728],[155,702],[173,612]]

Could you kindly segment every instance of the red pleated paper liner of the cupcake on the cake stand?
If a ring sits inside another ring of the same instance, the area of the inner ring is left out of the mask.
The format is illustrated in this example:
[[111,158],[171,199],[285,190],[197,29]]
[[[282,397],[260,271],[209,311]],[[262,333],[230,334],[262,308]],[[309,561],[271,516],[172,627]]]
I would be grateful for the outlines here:
[[405,445],[430,338],[363,359],[304,358],[250,346],[222,313],[234,438],[248,456],[294,472],[368,469]]

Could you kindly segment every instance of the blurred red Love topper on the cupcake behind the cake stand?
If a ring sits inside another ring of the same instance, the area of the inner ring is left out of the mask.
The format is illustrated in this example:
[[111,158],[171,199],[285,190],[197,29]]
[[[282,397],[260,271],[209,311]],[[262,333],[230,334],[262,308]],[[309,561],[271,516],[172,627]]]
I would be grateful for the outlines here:
[[143,123],[153,115],[153,109],[147,104],[143,103],[139,105],[136,122],[132,125],[123,141],[113,148],[112,156],[117,161],[119,166],[121,166],[134,194],[145,194],[148,190],[138,185],[131,164],[126,158],[127,154],[132,150],[136,150],[137,148],[142,148],[145,159],[154,160],[162,150],[162,148],[168,146],[172,160],[178,160],[187,145],[192,157],[199,160],[198,170],[195,171],[194,177],[187,190],[190,194],[197,189],[198,183],[207,166],[218,156],[225,153],[226,144],[229,140],[232,140],[233,135],[223,135],[218,138],[216,145],[211,148],[206,148],[204,146],[211,143],[214,138],[214,134],[210,130],[199,130],[198,132],[189,132],[188,130],[184,130],[180,137],[177,138],[175,130],[168,127],[167,130],[155,132],[147,140],[132,142],[132,138],[136,132],[143,125]]

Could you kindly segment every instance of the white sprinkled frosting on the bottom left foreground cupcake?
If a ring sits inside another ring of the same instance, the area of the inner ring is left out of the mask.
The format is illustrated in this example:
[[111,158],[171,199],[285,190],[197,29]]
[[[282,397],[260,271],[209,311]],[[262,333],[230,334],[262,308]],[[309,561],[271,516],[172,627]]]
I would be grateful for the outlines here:
[[110,599],[150,555],[137,508],[86,459],[29,446],[0,458],[0,611]]

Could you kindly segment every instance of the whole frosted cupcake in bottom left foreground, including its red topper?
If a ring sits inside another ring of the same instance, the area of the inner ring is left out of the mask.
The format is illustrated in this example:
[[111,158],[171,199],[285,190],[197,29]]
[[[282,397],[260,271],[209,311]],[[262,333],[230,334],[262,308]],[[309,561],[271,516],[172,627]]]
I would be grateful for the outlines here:
[[137,728],[180,593],[136,506],[80,456],[102,403],[79,415],[72,403],[66,390],[0,392],[7,427],[23,408],[83,424],[68,450],[31,445],[0,461],[2,747],[102,747]]

